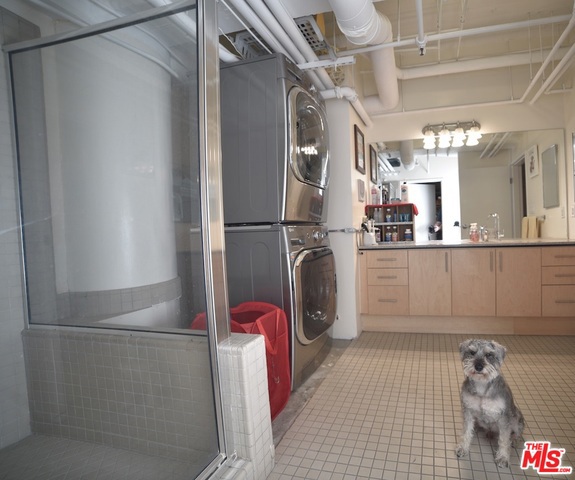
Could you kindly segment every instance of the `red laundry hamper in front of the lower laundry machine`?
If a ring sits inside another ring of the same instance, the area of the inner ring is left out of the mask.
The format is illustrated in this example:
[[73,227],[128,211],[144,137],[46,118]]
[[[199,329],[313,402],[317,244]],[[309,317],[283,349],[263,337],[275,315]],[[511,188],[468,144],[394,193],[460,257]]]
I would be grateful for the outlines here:
[[[231,308],[230,314],[232,332],[261,334],[264,337],[273,420],[286,406],[291,392],[286,314],[281,308],[264,302],[241,303]],[[205,313],[196,316],[190,328],[205,330]]]

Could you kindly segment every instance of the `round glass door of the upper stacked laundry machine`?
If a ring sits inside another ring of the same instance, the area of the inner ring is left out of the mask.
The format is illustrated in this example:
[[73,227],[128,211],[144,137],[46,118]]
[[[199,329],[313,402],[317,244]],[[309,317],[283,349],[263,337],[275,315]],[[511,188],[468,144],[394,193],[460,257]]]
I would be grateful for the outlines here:
[[301,87],[289,92],[290,165],[295,177],[321,189],[329,182],[329,138],[323,106]]

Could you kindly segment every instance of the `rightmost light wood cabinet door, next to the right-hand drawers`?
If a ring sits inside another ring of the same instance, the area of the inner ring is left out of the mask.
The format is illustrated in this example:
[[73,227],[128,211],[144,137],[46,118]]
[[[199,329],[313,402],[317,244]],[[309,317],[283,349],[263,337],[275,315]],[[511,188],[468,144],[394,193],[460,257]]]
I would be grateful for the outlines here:
[[498,248],[497,315],[541,315],[541,249]]

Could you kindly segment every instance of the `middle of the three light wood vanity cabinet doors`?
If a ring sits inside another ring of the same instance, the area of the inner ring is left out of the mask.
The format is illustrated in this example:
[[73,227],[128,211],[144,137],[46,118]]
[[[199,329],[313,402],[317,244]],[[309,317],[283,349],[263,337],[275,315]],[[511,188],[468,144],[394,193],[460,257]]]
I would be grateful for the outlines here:
[[495,315],[495,249],[454,248],[451,252],[452,315]]

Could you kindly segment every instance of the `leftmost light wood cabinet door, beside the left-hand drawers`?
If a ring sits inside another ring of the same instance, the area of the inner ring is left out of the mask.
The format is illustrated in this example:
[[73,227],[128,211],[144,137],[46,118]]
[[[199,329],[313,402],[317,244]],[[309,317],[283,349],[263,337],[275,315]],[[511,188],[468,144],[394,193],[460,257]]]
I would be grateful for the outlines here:
[[409,251],[409,314],[451,315],[451,252]]

